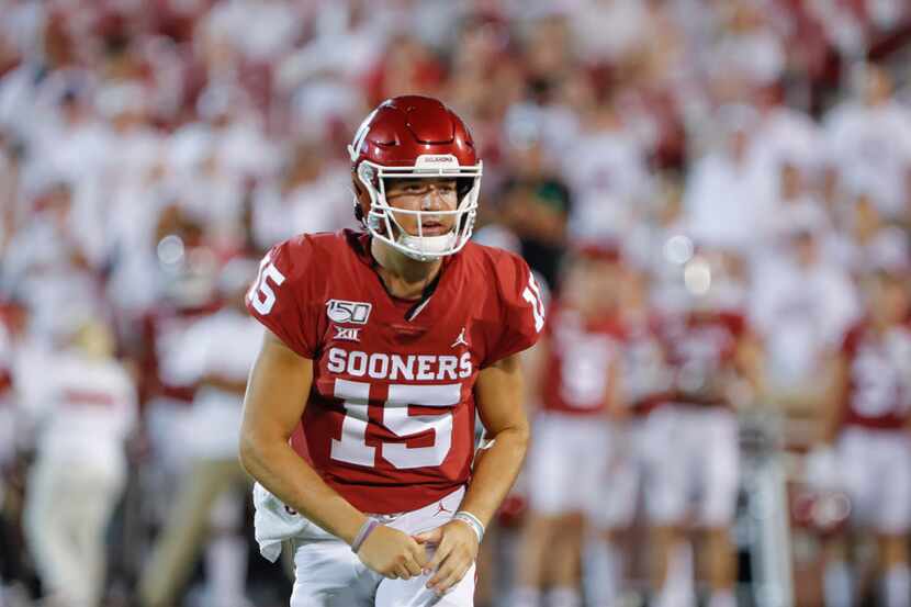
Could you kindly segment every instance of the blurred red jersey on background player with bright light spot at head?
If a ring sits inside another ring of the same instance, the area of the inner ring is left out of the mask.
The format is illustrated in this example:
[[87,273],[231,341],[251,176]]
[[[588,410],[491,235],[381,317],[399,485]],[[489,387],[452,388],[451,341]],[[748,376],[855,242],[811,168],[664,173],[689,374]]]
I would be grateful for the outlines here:
[[745,331],[743,316],[687,315],[662,321],[657,330],[671,373],[666,403],[727,406],[727,380]]

